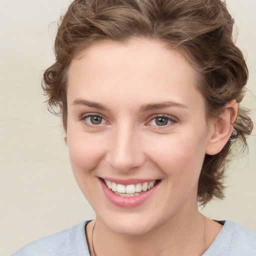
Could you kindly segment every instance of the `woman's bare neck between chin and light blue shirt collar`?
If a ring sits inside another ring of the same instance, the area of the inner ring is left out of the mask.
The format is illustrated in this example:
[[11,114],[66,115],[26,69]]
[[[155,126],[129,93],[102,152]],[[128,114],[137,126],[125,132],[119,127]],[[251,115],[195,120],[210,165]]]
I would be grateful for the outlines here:
[[[187,214],[186,214],[187,215]],[[213,241],[217,233],[212,229],[212,221],[205,219],[196,209],[189,216],[180,214],[141,235],[121,235],[110,230],[99,218],[88,224],[86,233],[93,256],[159,255],[182,256],[201,255]],[[213,232],[209,232],[209,230]],[[210,235],[211,234],[211,235]]]

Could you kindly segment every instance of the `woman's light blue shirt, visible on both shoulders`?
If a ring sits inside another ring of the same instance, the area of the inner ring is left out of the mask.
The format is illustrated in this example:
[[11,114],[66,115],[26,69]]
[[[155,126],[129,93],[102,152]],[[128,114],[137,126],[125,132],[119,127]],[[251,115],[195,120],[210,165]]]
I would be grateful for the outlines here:
[[[33,241],[11,256],[90,256],[84,228],[88,222]],[[226,220],[202,256],[256,256],[256,234]]]

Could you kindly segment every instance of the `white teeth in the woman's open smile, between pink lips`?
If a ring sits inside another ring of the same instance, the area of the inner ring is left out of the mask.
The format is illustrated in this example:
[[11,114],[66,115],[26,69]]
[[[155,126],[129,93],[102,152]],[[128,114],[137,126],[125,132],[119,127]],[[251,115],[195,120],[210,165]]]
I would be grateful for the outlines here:
[[160,182],[160,179],[155,179],[147,182],[138,182],[124,185],[107,179],[102,180],[109,190],[111,190],[114,194],[123,197],[137,196],[145,193]]

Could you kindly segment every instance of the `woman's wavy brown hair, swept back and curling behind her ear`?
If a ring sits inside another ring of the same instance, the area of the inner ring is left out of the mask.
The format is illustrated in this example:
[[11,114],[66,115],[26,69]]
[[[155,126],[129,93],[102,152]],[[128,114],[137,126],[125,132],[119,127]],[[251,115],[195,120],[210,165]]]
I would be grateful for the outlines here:
[[198,89],[207,117],[218,117],[232,99],[238,104],[233,132],[215,155],[205,155],[198,183],[198,201],[205,205],[223,197],[223,176],[231,145],[246,136],[252,121],[239,103],[244,96],[247,67],[232,40],[233,19],[221,0],[74,0],[61,19],[55,39],[55,62],[44,72],[43,90],[49,110],[60,107],[66,129],[68,67],[81,49],[95,41],[126,42],[145,37],[165,42],[184,53],[198,72]]

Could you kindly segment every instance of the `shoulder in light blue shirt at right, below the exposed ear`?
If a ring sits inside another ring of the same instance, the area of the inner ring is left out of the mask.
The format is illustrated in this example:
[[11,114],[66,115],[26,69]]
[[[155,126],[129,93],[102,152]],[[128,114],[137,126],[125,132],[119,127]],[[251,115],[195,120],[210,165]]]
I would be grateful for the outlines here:
[[256,234],[225,220],[219,234],[203,256],[256,256]]

